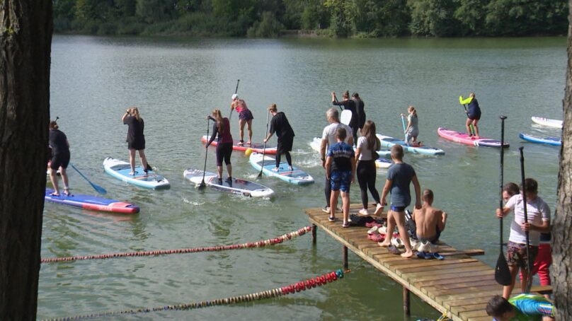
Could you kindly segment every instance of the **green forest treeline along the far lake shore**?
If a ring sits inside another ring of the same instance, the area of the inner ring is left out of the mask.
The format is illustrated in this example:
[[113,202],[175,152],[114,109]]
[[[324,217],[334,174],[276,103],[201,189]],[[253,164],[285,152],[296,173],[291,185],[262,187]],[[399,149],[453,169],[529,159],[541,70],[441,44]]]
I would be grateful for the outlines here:
[[277,37],[566,35],[566,0],[53,0],[56,33]]

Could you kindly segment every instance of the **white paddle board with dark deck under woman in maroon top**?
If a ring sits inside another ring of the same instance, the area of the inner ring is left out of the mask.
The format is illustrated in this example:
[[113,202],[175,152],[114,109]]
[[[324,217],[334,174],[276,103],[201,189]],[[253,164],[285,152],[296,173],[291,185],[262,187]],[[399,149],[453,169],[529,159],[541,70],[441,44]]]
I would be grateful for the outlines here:
[[[188,168],[183,172],[183,175],[187,180],[190,180],[198,186],[202,182],[202,173],[202,170]],[[248,180],[233,178],[232,182],[222,180],[221,184],[219,184],[218,181],[219,177],[217,174],[205,172],[205,185],[218,189],[219,191],[243,194],[248,197],[270,197],[274,194],[272,189],[264,185],[256,184],[255,182],[249,182]]]

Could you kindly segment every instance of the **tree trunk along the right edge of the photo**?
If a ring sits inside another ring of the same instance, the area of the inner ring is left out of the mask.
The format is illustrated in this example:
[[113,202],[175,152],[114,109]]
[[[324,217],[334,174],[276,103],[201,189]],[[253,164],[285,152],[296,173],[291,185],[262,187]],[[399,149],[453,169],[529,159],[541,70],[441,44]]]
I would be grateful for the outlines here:
[[[568,0],[572,21],[572,0]],[[568,25],[568,66],[564,93],[564,127],[558,175],[558,205],[552,221],[552,264],[556,320],[572,320],[572,28]]]

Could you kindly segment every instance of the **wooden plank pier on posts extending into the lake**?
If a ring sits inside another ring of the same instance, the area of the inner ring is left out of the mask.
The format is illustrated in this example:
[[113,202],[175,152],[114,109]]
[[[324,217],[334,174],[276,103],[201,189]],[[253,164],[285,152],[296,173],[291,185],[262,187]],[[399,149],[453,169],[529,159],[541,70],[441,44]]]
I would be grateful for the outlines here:
[[[361,204],[350,206],[350,214],[357,214]],[[440,243],[439,253],[445,259],[405,259],[391,254],[367,238],[365,227],[342,228],[341,213],[338,221],[329,222],[328,214],[321,209],[307,209],[306,214],[313,224],[312,242],[316,243],[316,228],[322,228],[342,247],[343,265],[348,267],[348,249],[372,264],[404,288],[404,313],[410,315],[409,296],[415,294],[452,320],[491,320],[486,315],[488,300],[502,295],[502,286],[496,283],[494,269],[474,255],[484,255],[483,250],[459,251]],[[383,215],[385,216],[385,215]],[[445,232],[446,233],[446,232]],[[515,286],[515,289],[518,288]],[[533,287],[533,291],[549,292],[549,287]]]

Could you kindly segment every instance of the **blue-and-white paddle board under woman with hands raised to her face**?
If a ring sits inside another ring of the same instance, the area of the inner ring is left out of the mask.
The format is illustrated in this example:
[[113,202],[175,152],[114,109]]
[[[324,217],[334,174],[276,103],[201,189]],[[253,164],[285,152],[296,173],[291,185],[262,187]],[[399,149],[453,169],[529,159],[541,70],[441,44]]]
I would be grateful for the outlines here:
[[141,166],[135,168],[135,175],[129,175],[131,172],[131,166],[129,163],[115,158],[105,158],[103,161],[103,168],[109,175],[118,178],[123,182],[128,182],[139,187],[152,189],[171,187],[165,177],[155,174],[153,170],[149,170],[145,173]]

